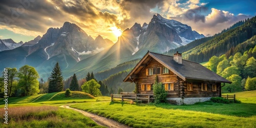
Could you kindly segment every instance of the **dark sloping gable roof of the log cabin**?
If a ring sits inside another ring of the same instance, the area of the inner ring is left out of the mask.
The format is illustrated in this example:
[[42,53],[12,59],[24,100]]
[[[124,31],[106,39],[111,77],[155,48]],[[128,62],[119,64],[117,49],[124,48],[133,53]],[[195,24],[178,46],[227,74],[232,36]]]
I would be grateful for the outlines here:
[[204,66],[200,65],[200,63],[182,59],[182,64],[179,64],[173,58],[173,56],[147,52],[123,81],[132,82],[132,79],[130,78],[132,78],[133,76],[137,76],[152,59],[155,59],[184,81],[186,81],[187,79],[192,79],[231,83],[230,81],[219,76],[215,72],[212,72]]

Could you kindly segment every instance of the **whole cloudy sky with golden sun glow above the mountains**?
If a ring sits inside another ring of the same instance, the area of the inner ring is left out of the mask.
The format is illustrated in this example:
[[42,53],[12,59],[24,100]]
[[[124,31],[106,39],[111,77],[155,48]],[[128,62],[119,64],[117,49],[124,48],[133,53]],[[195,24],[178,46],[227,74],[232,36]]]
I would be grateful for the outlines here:
[[93,38],[101,35],[116,42],[117,31],[148,24],[157,13],[208,36],[255,16],[255,7],[253,0],[4,0],[0,39],[25,42],[70,22]]

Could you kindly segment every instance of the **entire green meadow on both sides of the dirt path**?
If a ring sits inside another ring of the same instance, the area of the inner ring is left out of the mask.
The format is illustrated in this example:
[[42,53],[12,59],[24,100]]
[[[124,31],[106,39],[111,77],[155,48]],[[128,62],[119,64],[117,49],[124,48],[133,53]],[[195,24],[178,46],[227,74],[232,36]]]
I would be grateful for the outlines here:
[[71,97],[65,97],[64,93],[9,98],[9,124],[2,121],[0,127],[102,127],[60,105],[71,105],[132,127],[256,127],[256,91],[234,93],[242,103],[207,101],[193,105],[111,102],[106,96],[72,92]]

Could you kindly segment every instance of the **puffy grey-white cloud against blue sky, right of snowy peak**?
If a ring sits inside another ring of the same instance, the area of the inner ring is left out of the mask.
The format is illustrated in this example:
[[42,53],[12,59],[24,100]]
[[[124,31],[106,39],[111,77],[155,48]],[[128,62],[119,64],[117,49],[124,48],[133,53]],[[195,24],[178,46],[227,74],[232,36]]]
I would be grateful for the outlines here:
[[195,9],[189,9],[181,15],[169,18],[187,24],[191,26],[192,29],[199,33],[203,33],[204,35],[214,35],[240,20],[251,17],[244,14],[234,15],[228,11],[222,11],[215,8],[211,8],[211,12],[205,16],[204,13],[207,11],[208,8],[200,6]]

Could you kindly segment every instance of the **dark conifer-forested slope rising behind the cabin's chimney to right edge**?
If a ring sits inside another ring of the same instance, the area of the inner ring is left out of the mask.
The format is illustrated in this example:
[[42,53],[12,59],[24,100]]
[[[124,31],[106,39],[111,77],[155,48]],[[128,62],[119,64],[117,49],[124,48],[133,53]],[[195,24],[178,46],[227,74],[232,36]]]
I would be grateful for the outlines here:
[[[195,40],[186,46],[170,50],[166,54],[173,55],[175,51],[179,51],[183,53],[182,56],[185,59],[196,62],[208,61],[214,55],[233,55],[232,50],[236,46],[256,35],[256,17],[252,17],[241,26],[232,28],[223,30],[222,33],[213,37]],[[244,52],[244,49],[240,49],[240,52]]]

